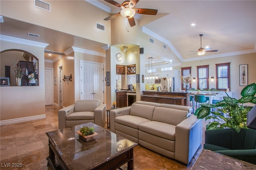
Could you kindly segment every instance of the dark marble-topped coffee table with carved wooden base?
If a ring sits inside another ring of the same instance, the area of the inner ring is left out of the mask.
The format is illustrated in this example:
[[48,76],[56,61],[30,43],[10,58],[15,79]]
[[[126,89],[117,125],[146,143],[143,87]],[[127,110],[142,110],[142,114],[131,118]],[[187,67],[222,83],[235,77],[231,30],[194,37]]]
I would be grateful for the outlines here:
[[48,165],[53,169],[116,169],[128,162],[133,166],[134,143],[118,134],[93,123],[83,124],[94,127],[96,139],[84,141],[76,132],[82,125],[46,132],[49,138]]

